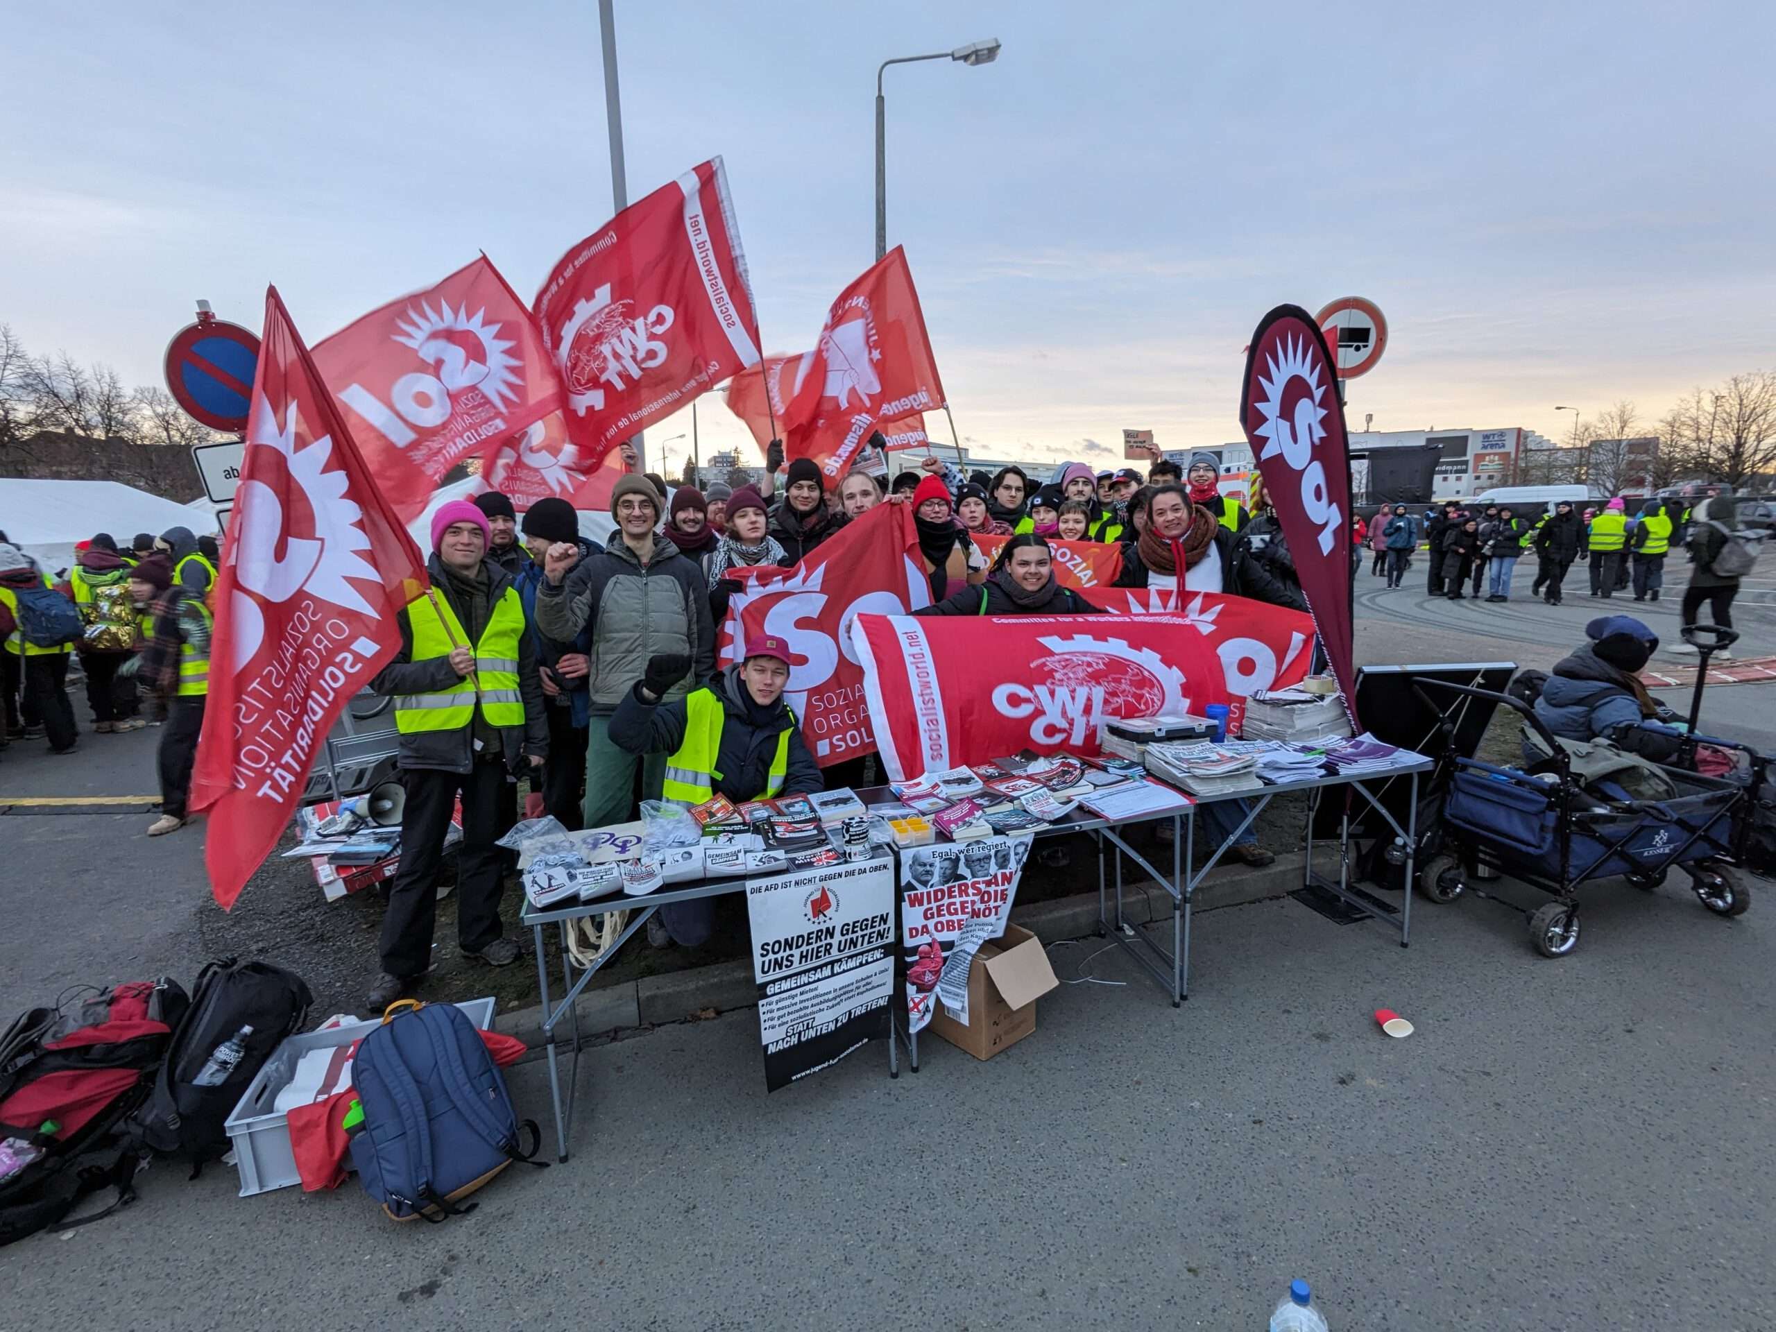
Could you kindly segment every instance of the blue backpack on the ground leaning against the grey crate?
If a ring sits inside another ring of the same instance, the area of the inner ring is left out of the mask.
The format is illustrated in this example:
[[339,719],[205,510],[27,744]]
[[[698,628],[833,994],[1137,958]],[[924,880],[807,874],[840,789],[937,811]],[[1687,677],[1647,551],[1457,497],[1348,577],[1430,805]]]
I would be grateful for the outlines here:
[[474,1211],[458,1199],[511,1162],[533,1162],[542,1135],[526,1119],[531,1149],[519,1151],[519,1121],[506,1080],[460,1009],[426,1003],[398,1012],[366,1035],[352,1060],[364,1124],[352,1165],[392,1220],[442,1222]]

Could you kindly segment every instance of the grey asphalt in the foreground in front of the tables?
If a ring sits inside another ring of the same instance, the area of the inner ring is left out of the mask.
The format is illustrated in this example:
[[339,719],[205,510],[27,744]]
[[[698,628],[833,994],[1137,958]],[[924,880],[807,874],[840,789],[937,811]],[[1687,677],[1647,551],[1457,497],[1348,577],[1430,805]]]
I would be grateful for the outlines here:
[[[769,1098],[751,1012],[661,1028],[588,1051],[574,1160],[471,1217],[156,1167],[0,1252],[5,1321],[1220,1330],[1305,1277],[1341,1330],[1767,1328],[1772,920],[1597,892],[1543,961],[1483,900],[1403,952],[1279,899],[1199,916],[1181,1011],[1060,945],[1128,984],[1064,986],[986,1064],[931,1041],[890,1082],[872,1046]],[[511,1085],[545,1119],[542,1067]]]

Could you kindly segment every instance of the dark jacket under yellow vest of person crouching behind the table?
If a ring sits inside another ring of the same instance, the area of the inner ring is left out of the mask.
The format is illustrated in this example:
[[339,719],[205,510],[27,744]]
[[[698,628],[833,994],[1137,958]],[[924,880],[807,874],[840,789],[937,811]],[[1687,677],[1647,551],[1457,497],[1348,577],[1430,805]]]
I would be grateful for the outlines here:
[[[780,698],[771,719],[755,725],[751,719],[751,700],[746,698],[746,684],[741,680],[741,668],[728,666],[709,682],[725,709],[721,721],[721,748],[716,751],[716,790],[730,801],[760,799],[767,790],[771,758],[776,755],[778,737],[789,732],[789,767],[783,773],[785,792],[824,790],[821,769],[808,753],[808,744],[801,739],[801,726],[796,714]],[[686,705],[680,696],[675,702],[648,703],[641,698],[638,680],[611,714],[611,741],[618,749],[629,753],[677,753],[684,744]]]

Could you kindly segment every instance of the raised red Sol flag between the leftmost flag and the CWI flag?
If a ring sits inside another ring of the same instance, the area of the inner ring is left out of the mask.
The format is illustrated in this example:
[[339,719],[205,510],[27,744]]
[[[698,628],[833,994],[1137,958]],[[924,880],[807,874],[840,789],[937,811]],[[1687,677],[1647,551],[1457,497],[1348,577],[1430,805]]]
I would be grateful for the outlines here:
[[318,343],[314,364],[401,520],[464,458],[561,408],[531,313],[487,256]]

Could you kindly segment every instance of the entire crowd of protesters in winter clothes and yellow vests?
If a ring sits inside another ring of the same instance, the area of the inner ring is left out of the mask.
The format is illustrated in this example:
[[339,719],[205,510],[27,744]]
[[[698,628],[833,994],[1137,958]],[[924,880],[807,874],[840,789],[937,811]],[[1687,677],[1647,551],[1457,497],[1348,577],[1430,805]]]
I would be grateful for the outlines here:
[[[392,698],[398,769],[407,787],[400,868],[380,938],[380,975],[368,1007],[408,993],[430,968],[435,881],[453,819],[460,821],[458,943],[494,966],[519,957],[501,929],[510,870],[497,840],[529,783],[533,812],[568,829],[627,822],[641,799],[733,801],[780,790],[861,785],[872,760],[821,769],[783,702],[787,645],[749,639],[749,655],[718,670],[716,630],[746,570],[794,567],[877,504],[908,504],[931,604],[916,614],[1098,614],[1055,575],[1053,542],[1121,549],[1119,588],[1215,591],[1305,611],[1282,526],[1254,474],[1245,503],[1220,492],[1215,455],[1183,467],[1154,453],[1146,474],[1067,462],[1039,478],[1019,467],[963,474],[936,456],[888,481],[886,458],[831,485],[812,460],[785,465],[767,449],[757,483],[680,485],[630,471],[618,478],[599,543],[581,515],[543,499],[522,515],[499,492],[453,501],[430,524],[432,588],[400,614],[401,646],[371,689]],[[733,478],[739,481],[741,478]],[[1712,501],[1710,501],[1712,503]],[[1709,572],[1709,520],[1691,540],[1684,620],[1701,600],[1730,623],[1737,581]],[[1632,583],[1657,600],[1675,517],[1652,501],[1627,522],[1620,499],[1582,520],[1572,504],[1531,522],[1508,506],[1458,503],[1419,519],[1398,504],[1352,524],[1353,568],[1403,586],[1428,542],[1428,590],[1460,600],[1506,600],[1515,563],[1534,556],[1533,591],[1558,604],[1570,565],[1590,561],[1593,595]],[[982,538],[998,538],[987,558]],[[911,554],[911,549],[909,549]],[[83,666],[94,733],[162,726],[160,836],[185,826],[192,760],[208,694],[211,586],[220,552],[185,527],[139,535],[130,549],[98,533],[55,577],[0,536],[0,636],[5,733],[43,735],[52,753],[78,744],[67,696],[75,654]],[[39,646],[20,632],[21,591],[71,600],[76,643]],[[1204,806],[1217,836],[1245,822],[1240,801]],[[1245,829],[1233,854],[1272,854]],[[661,911],[655,947],[709,938],[707,904]]]

